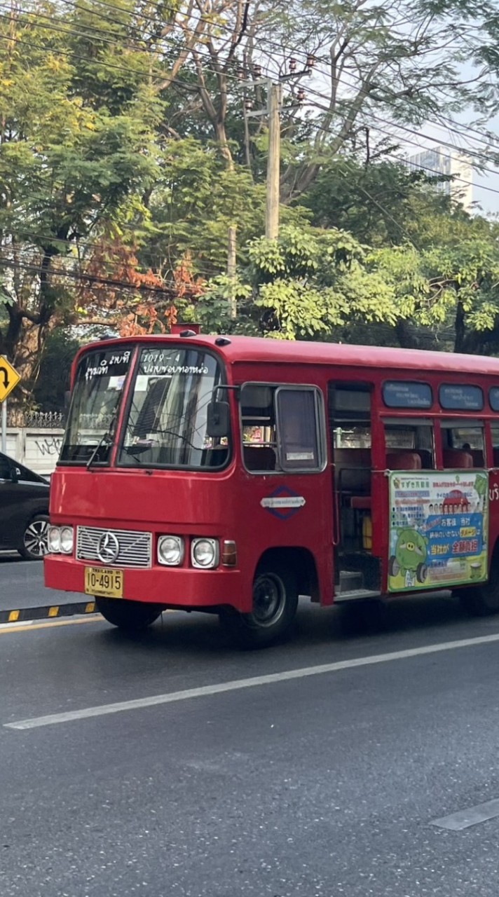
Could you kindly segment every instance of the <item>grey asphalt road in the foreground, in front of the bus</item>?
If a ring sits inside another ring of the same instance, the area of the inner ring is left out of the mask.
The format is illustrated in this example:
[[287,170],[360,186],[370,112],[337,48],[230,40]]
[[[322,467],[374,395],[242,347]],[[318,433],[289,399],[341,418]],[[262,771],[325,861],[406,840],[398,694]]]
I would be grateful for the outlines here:
[[0,629],[0,894],[497,897],[499,816],[433,823],[499,798],[498,679],[499,618],[435,597],[258,653],[196,614]]

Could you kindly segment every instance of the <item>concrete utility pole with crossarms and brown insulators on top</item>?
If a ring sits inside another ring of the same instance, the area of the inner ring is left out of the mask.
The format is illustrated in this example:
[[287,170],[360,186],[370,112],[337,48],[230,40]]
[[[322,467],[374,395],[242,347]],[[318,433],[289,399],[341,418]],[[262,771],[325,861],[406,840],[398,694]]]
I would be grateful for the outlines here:
[[[279,75],[277,81],[272,78],[260,78],[261,66],[253,66],[253,79],[245,80],[244,69],[240,69],[238,75],[245,87],[258,87],[259,84],[267,86],[267,107],[251,111],[253,101],[245,97],[243,109],[245,124],[248,118],[267,117],[268,120],[268,158],[267,158],[267,209],[265,217],[265,235],[267,239],[277,239],[279,236],[279,179],[281,163],[281,107],[282,107],[282,83],[296,81],[303,74],[311,74],[315,57],[307,56],[307,62],[301,72],[296,71],[296,59],[289,60],[289,74]],[[297,103],[286,109],[301,109],[305,99],[305,91],[299,88]]]

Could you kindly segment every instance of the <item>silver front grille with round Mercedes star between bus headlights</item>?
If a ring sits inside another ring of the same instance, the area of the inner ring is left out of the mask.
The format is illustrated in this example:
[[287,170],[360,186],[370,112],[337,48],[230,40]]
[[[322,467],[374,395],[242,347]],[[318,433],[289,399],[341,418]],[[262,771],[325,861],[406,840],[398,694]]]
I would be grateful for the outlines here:
[[153,535],[132,529],[78,527],[76,559],[106,567],[151,567]]

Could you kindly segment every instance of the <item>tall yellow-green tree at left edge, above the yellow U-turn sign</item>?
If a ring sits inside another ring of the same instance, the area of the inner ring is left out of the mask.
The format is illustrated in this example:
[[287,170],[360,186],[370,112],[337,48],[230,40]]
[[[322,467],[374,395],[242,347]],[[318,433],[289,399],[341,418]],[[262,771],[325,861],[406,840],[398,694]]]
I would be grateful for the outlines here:
[[85,241],[109,221],[144,214],[141,196],[157,173],[147,87],[114,114],[83,100],[58,22],[57,6],[41,2],[26,13],[13,7],[0,24],[0,352],[24,379],[71,311]]

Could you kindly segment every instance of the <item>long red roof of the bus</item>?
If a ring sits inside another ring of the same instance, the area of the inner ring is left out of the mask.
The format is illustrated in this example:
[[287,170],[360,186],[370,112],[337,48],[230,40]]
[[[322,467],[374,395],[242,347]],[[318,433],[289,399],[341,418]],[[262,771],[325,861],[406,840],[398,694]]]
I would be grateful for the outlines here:
[[[188,325],[186,326],[188,327]],[[289,364],[325,364],[352,366],[355,368],[378,368],[391,370],[452,371],[499,375],[499,359],[487,355],[462,355],[446,352],[426,352],[421,349],[393,349],[371,345],[349,345],[341,343],[292,342],[258,336],[210,336],[178,334],[167,336],[127,336],[117,340],[105,340],[92,344],[92,348],[106,344],[156,343],[166,341],[215,348],[226,361]],[[222,343],[223,341],[223,343]],[[225,342],[227,341],[227,342]],[[85,346],[85,349],[90,346]]]

